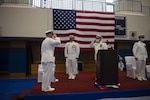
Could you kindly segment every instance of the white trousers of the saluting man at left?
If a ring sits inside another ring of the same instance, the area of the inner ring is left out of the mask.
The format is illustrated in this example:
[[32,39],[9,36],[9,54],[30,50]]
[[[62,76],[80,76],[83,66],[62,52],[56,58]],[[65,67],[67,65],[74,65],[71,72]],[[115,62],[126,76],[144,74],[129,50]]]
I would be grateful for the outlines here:
[[54,81],[55,66],[53,62],[43,62],[41,64],[43,66],[42,90],[46,90]]

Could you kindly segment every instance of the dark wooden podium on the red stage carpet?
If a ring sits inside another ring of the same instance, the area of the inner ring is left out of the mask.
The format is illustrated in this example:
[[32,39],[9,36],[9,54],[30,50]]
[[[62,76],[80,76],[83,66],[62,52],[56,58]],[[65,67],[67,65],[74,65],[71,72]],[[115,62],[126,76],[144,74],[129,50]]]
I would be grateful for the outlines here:
[[118,84],[118,54],[116,50],[99,50],[96,78],[100,85]]

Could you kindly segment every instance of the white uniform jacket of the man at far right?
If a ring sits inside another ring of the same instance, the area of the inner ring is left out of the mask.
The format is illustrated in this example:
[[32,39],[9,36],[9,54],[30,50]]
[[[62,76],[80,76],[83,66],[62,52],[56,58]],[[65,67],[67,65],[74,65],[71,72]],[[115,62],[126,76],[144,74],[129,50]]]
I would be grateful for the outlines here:
[[138,60],[146,60],[148,58],[146,44],[141,41],[134,43],[132,52]]

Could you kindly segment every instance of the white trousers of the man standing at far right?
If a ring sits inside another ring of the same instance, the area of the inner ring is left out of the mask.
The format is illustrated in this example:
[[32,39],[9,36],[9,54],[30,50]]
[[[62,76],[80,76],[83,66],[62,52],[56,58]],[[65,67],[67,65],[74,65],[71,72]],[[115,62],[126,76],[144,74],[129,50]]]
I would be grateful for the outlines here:
[[137,66],[136,66],[136,77],[144,77],[145,78],[145,67],[146,67],[146,61],[145,60],[137,60]]

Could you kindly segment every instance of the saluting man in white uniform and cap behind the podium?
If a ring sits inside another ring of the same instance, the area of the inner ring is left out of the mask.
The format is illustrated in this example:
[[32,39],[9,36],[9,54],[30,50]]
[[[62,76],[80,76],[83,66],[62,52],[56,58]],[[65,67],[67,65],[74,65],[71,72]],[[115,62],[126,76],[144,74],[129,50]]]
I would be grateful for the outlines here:
[[95,50],[95,56],[94,56],[95,62],[97,61],[98,50],[107,50],[108,49],[107,44],[102,42],[102,38],[103,37],[100,34],[97,34],[96,39],[94,41],[92,41],[90,44],[90,46],[94,47],[94,50]]

